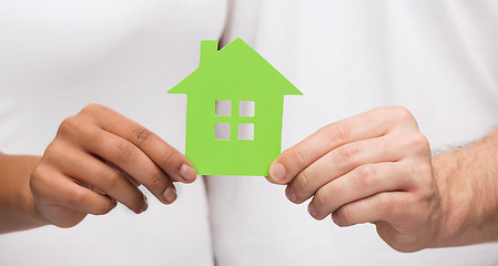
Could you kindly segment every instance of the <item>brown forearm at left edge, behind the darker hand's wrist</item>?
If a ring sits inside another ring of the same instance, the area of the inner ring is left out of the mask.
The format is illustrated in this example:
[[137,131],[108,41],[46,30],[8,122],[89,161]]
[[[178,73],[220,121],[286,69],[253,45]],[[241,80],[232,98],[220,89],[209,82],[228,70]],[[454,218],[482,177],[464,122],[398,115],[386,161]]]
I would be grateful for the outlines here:
[[48,224],[34,204],[30,174],[40,157],[0,153],[0,234]]

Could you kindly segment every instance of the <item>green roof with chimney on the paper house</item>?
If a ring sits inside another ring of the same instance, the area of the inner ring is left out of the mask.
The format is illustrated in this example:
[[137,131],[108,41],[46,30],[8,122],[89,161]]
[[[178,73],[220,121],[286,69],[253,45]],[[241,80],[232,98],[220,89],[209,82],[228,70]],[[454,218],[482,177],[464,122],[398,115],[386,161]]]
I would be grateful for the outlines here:
[[234,85],[251,93],[303,94],[240,38],[220,51],[217,41],[201,41],[200,66],[167,92],[231,93]]

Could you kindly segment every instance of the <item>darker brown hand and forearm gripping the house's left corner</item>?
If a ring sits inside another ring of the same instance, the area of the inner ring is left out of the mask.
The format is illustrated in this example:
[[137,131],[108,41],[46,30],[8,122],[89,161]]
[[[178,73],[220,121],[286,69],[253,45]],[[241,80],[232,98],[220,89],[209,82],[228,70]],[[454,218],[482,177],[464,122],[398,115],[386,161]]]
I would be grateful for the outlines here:
[[192,163],[156,134],[90,104],[61,123],[42,157],[0,154],[0,233],[72,227],[118,202],[139,214],[148,208],[139,185],[171,204],[173,182],[195,178]]

